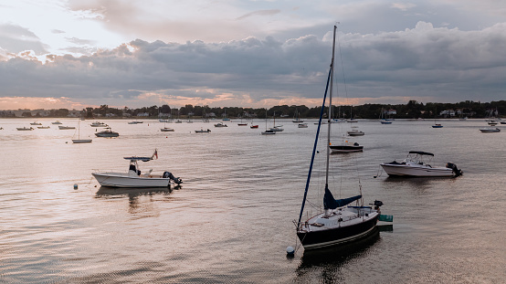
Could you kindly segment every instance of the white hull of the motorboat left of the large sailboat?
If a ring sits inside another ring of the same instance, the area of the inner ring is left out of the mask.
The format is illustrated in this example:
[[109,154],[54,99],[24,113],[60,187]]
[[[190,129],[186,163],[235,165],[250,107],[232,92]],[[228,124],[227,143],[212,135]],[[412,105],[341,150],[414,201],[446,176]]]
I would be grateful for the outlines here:
[[101,186],[111,187],[167,187],[170,179],[163,177],[132,176],[121,173],[92,173]]

